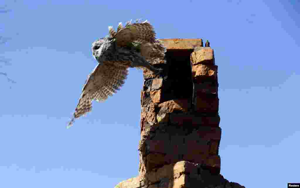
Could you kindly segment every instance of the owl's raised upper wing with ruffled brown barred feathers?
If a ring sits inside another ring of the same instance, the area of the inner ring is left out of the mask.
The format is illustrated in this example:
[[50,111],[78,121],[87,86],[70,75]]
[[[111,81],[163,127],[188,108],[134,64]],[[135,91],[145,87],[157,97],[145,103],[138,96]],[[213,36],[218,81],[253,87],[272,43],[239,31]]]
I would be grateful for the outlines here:
[[113,27],[108,27],[110,37],[116,39],[116,43],[119,46],[128,46],[130,43],[155,43],[155,31],[152,25],[146,20],[145,22],[138,23],[127,22],[125,27],[120,22],[117,28],[117,32],[113,30]]

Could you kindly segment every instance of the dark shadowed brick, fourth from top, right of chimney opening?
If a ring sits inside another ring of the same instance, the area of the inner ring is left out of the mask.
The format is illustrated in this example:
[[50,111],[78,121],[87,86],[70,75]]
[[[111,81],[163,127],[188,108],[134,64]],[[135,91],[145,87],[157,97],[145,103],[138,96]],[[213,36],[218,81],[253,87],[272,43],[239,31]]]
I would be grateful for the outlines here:
[[196,95],[194,104],[196,112],[208,113],[218,112],[219,110],[219,98],[208,97],[207,95]]

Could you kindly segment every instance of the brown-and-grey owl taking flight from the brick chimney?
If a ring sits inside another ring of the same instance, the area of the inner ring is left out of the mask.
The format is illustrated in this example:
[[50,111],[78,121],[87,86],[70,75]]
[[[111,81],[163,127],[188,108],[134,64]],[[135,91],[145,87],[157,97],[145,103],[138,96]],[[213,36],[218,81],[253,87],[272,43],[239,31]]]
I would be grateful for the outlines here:
[[119,23],[117,31],[109,26],[109,36],[92,43],[92,54],[98,65],[88,75],[82,94],[68,127],[76,118],[91,111],[92,101],[105,101],[124,84],[129,67],[146,68],[158,75],[162,69],[152,64],[161,61],[166,47],[157,40],[152,25],[146,20],[140,23]]

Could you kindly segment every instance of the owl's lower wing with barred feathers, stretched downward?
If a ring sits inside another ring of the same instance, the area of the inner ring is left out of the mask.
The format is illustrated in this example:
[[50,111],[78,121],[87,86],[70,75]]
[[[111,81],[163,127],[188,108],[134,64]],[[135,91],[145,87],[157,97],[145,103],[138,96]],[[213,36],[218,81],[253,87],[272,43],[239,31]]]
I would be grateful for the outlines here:
[[116,93],[124,84],[127,75],[126,67],[115,66],[113,63],[98,64],[85,82],[69,126],[72,126],[75,118],[91,111],[94,99],[105,101],[108,96]]

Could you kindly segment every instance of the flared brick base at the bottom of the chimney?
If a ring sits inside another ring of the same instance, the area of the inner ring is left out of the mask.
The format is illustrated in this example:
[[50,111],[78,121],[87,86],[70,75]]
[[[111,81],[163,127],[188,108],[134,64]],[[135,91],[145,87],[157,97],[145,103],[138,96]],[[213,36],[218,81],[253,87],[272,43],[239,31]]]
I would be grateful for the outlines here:
[[115,188],[217,188],[225,185],[225,187],[245,188],[238,183],[229,182],[222,175],[211,174],[207,169],[201,164],[180,161],[122,181]]

